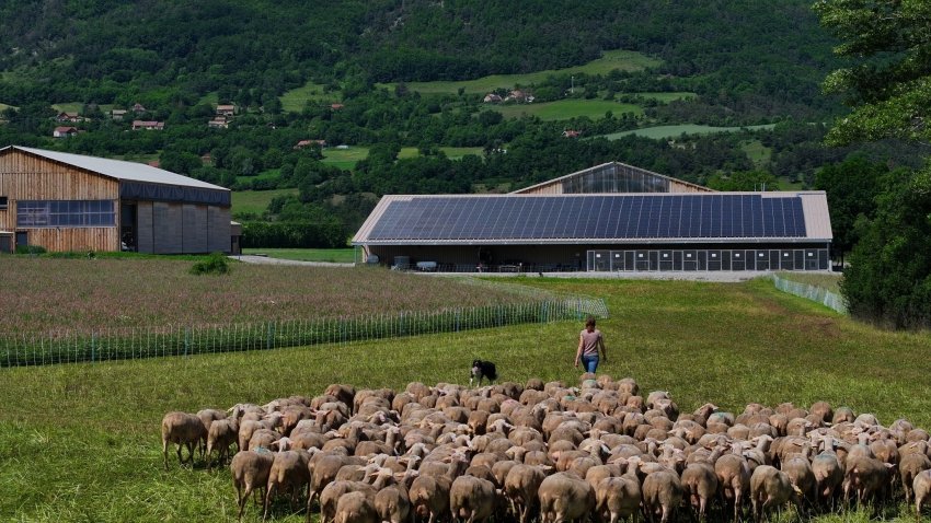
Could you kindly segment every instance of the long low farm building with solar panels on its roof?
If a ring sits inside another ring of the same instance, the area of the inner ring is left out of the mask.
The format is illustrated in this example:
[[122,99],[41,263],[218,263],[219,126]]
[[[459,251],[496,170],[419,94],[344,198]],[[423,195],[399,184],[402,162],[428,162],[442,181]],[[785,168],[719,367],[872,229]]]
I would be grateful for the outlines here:
[[572,176],[508,195],[384,196],[353,243],[371,262],[455,271],[830,267],[824,191],[717,193],[623,164]]

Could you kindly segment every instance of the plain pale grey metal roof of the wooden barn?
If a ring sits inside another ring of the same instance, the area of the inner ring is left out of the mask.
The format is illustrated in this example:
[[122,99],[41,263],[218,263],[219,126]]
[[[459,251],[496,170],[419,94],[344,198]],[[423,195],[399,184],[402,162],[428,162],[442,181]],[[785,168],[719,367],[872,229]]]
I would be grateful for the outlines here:
[[56,162],[65,163],[74,167],[91,171],[104,176],[119,181],[141,182],[147,184],[174,185],[182,187],[197,187],[202,189],[225,190],[226,187],[200,182],[171,171],[153,167],[143,163],[126,162],[123,160],[111,160],[107,158],[85,156],[83,154],[71,154],[67,152],[47,151],[30,147],[9,146],[0,149],[0,153],[9,150],[23,151],[28,154],[42,156]]

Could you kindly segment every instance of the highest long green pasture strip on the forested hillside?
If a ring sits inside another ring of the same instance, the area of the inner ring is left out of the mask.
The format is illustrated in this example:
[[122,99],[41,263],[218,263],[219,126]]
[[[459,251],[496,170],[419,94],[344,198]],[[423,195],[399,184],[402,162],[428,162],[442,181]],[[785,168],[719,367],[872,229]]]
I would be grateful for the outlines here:
[[[630,50],[609,50],[605,51],[601,58],[589,61],[588,63],[565,69],[549,69],[544,71],[535,71],[522,74],[492,74],[482,77],[475,80],[461,80],[449,82],[410,82],[406,83],[407,89],[417,91],[421,94],[456,94],[459,89],[463,89],[469,94],[485,94],[495,89],[514,89],[517,85],[528,86],[537,84],[554,74],[607,74],[616,69],[622,71],[640,71],[646,68],[656,67],[662,61],[651,58],[641,53]],[[380,86],[393,90],[395,83],[382,83]]]

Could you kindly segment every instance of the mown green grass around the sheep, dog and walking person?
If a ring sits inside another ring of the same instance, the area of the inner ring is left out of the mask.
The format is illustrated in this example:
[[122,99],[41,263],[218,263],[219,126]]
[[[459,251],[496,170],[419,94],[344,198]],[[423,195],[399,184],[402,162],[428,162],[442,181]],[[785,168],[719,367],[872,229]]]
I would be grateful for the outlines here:
[[[426,281],[432,278],[423,278]],[[825,399],[889,423],[931,427],[931,340],[890,333],[781,293],[768,280],[709,282],[515,279],[602,297],[608,346],[600,370],[667,390],[682,411],[711,400],[807,406]],[[415,283],[419,284],[419,283]],[[337,299],[335,295],[334,299]],[[249,353],[0,371],[0,514],[12,521],[231,521],[227,469],[164,472],[164,412],[314,395],[330,383],[401,388],[411,381],[465,383],[475,358],[503,380],[575,383],[581,323]],[[300,522],[286,504],[275,521]],[[913,521],[904,505],[885,519]],[[250,504],[246,521],[255,521]],[[784,518],[781,521],[795,519]],[[866,512],[814,518],[867,521]]]

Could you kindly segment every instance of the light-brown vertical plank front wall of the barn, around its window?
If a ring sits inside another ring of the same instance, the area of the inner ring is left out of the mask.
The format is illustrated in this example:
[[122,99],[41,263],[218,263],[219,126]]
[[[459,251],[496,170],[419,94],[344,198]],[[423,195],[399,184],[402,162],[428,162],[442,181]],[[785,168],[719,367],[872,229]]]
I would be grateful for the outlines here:
[[[118,209],[119,183],[50,160],[11,150],[0,154],[0,196],[9,205],[0,210],[0,231],[15,231],[18,200],[114,200]],[[23,228],[31,245],[48,251],[118,251],[117,226]]]

